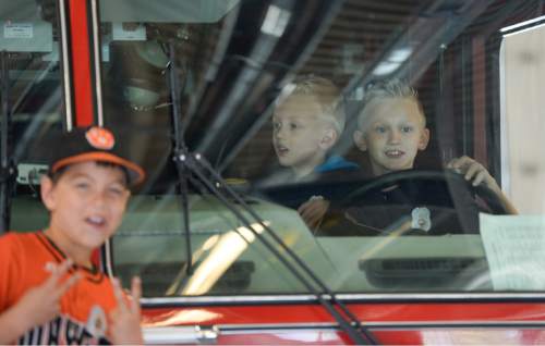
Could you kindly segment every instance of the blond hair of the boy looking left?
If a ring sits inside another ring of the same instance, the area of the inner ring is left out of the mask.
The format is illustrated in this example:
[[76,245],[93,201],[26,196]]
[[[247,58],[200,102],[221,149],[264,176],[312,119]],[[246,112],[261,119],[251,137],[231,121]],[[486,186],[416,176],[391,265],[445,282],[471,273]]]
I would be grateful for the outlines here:
[[339,136],[342,134],[346,123],[344,104],[340,89],[331,81],[314,74],[301,75],[289,84],[282,94],[279,102],[294,95],[314,96],[323,110],[323,118],[334,124]]

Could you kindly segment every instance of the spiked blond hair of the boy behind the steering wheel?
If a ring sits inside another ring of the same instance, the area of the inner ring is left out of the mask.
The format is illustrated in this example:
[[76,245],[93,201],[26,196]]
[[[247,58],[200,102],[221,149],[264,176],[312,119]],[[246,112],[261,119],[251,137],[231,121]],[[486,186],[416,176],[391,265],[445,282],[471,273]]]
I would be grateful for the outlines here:
[[364,129],[365,120],[370,118],[368,112],[371,110],[368,106],[371,104],[371,102],[389,98],[405,98],[414,101],[419,107],[425,126],[426,116],[424,115],[424,108],[419,100],[419,92],[416,92],[416,90],[409,84],[393,78],[375,83],[365,90],[365,96],[363,98],[363,109],[358,116],[358,126],[362,131]]

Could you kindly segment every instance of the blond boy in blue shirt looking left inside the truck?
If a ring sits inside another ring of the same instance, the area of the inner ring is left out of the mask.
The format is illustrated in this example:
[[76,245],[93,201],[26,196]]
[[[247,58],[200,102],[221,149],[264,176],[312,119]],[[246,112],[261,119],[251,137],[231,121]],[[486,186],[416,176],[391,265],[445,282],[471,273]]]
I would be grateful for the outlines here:
[[[359,165],[330,150],[344,128],[339,88],[329,79],[305,75],[283,90],[272,115],[272,145],[280,165],[294,181],[308,181],[331,172],[354,171]],[[316,227],[326,212],[328,196],[306,196],[299,206],[303,220]]]

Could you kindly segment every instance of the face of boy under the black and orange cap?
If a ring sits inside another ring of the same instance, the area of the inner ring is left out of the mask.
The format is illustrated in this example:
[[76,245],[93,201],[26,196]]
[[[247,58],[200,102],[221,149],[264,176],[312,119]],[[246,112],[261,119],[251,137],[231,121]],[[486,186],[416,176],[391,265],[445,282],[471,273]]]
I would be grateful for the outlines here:
[[76,262],[101,246],[121,223],[130,191],[124,172],[94,161],[70,164],[53,183],[41,182],[51,220],[46,234]]

